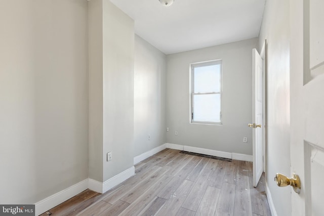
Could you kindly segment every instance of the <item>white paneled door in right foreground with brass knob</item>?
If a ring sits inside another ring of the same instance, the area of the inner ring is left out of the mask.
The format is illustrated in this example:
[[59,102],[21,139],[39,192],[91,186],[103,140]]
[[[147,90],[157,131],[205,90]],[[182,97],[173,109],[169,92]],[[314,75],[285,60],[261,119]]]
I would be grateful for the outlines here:
[[324,1],[291,0],[292,215],[324,215]]

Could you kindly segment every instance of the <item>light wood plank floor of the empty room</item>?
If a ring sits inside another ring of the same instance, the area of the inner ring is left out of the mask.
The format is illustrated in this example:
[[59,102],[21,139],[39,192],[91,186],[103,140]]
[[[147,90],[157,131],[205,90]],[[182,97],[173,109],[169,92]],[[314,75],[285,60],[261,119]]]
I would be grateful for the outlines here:
[[252,163],[165,149],[135,165],[136,175],[104,194],[86,190],[42,214],[271,215],[264,176],[252,186]]

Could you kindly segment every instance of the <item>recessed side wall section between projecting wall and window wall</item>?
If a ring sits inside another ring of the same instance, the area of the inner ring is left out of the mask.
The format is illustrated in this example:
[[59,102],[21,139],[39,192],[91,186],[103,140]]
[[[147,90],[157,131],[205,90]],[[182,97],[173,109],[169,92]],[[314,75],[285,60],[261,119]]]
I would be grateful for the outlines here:
[[166,143],[166,68],[166,55],[135,35],[134,156]]

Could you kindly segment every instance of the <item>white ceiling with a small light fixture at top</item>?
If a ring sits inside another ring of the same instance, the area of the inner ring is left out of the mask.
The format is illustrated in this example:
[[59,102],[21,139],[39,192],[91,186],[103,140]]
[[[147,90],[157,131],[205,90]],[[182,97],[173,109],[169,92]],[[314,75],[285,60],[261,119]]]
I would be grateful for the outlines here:
[[135,33],[165,54],[259,36],[266,0],[110,0],[135,21]]

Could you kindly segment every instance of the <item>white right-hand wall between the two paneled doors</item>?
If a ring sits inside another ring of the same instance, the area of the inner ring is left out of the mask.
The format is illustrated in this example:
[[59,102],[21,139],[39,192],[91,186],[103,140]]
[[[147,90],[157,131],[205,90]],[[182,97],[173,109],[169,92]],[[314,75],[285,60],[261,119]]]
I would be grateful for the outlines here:
[[267,1],[259,48],[267,39],[267,184],[278,215],[291,215],[291,188],[279,188],[277,172],[290,176],[289,0]]

